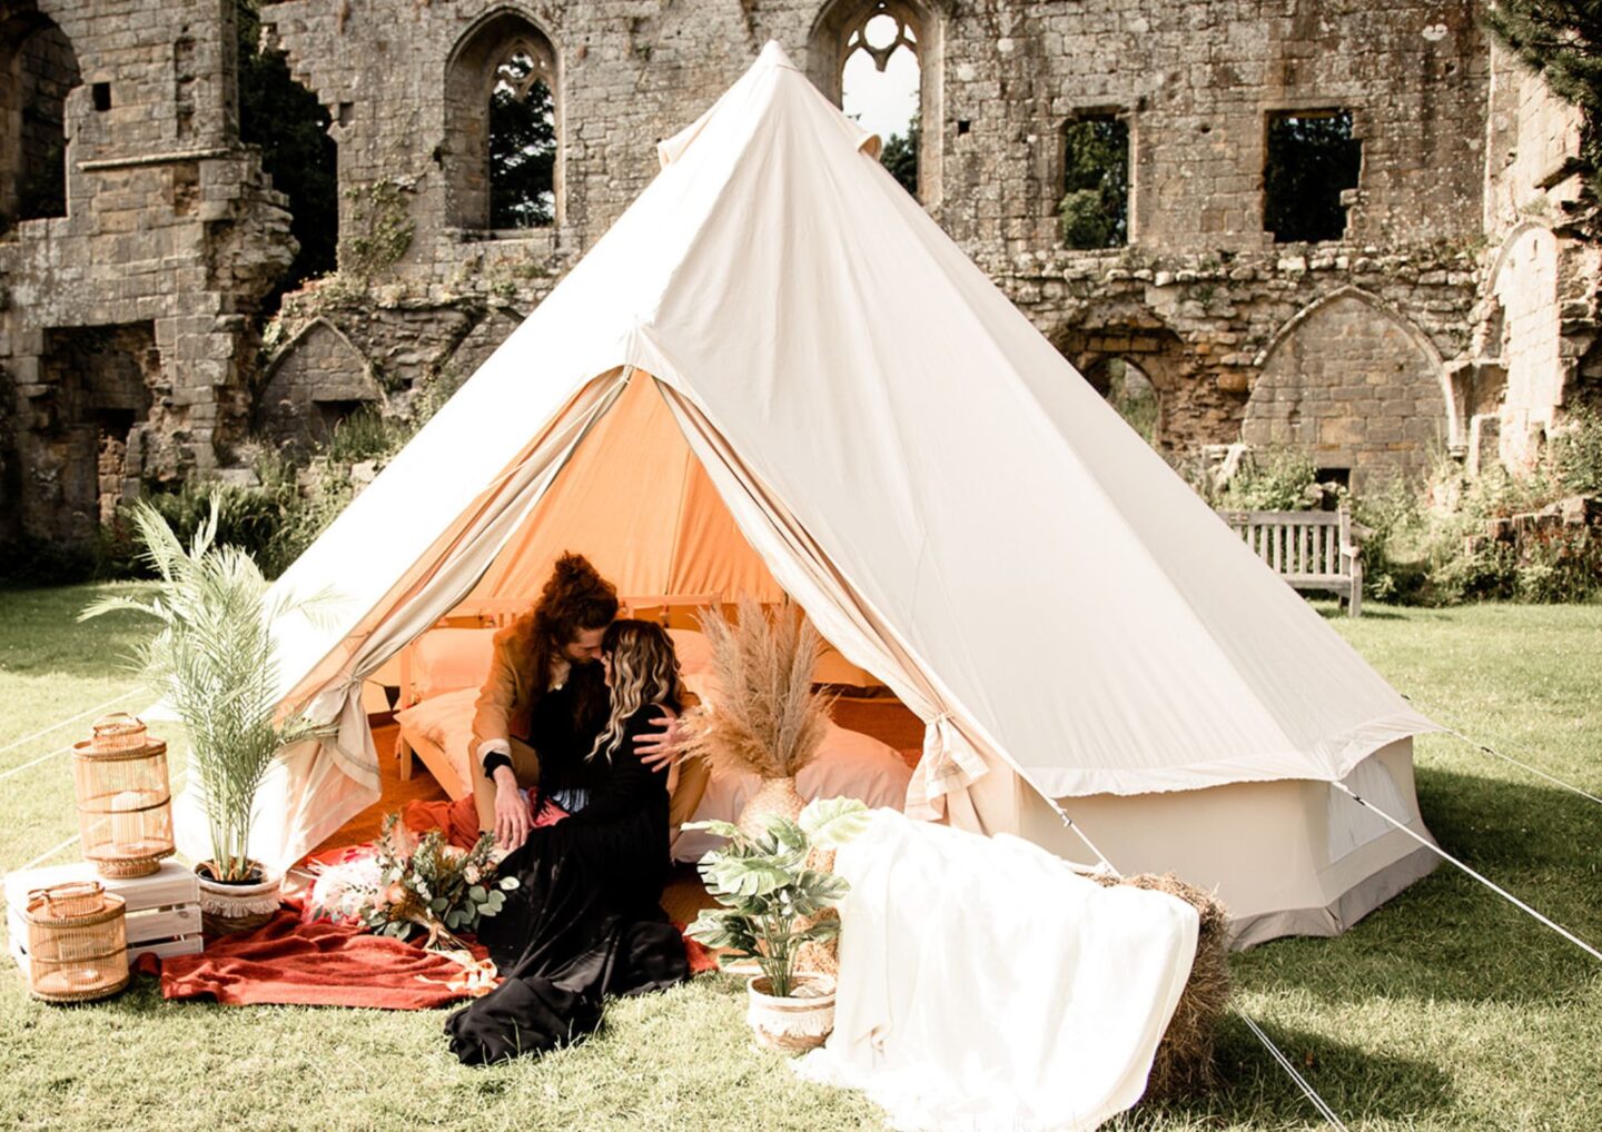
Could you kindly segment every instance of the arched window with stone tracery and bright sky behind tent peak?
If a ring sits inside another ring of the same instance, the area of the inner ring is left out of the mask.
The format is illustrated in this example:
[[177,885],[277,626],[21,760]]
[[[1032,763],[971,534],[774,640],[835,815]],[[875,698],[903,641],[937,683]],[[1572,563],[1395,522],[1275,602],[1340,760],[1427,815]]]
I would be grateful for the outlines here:
[[836,0],[812,29],[812,82],[863,130],[926,205],[940,197],[939,21],[912,0]]

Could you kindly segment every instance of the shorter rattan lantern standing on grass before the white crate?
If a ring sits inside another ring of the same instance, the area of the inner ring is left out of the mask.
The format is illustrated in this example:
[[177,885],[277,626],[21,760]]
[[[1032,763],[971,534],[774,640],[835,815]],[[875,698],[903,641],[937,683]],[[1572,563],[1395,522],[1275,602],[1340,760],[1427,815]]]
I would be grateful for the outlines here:
[[98,881],[56,884],[27,895],[27,988],[46,1002],[87,1002],[128,985],[122,897]]

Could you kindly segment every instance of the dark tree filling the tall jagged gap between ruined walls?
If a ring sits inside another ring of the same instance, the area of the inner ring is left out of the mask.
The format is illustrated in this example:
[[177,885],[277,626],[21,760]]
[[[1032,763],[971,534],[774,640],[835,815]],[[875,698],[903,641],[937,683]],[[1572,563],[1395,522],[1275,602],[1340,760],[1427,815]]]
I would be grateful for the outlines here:
[[290,77],[282,54],[261,51],[261,0],[239,5],[239,139],[261,149],[272,186],[290,199],[290,232],[300,251],[263,303],[269,317],[279,299],[304,280],[335,269],[340,242],[338,147],[328,112]]

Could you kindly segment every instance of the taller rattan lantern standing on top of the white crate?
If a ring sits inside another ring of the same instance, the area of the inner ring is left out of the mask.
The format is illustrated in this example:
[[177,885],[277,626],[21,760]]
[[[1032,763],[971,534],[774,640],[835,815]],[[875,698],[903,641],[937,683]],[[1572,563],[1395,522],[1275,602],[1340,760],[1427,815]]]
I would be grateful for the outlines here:
[[173,804],[167,743],[117,713],[95,722],[72,748],[83,857],[101,876],[149,876],[173,855]]

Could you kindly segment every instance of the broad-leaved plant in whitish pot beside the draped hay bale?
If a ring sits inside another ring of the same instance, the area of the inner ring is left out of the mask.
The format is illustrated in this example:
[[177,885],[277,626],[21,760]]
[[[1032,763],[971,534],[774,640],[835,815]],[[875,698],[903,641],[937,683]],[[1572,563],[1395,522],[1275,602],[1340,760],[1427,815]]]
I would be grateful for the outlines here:
[[755,959],[759,975],[747,981],[747,1020],[769,1049],[803,1052],[823,1044],[835,1028],[835,980],[798,972],[796,956],[807,941],[833,938],[838,917],[819,916],[849,890],[844,877],[809,868],[814,853],[830,852],[868,825],[867,807],[854,797],[809,802],[796,820],[769,815],[761,833],[732,821],[694,821],[727,837],[702,857],[700,874],[719,908],[708,908],[687,935],[727,959]]

